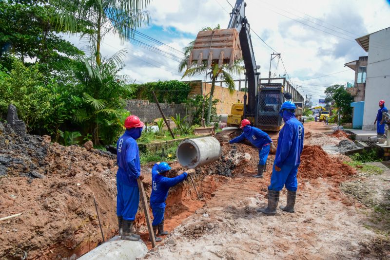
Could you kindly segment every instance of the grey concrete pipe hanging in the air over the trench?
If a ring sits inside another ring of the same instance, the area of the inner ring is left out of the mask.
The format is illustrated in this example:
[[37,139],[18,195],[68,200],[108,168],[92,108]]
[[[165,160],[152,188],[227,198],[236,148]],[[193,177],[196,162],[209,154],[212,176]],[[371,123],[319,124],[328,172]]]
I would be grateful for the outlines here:
[[221,146],[214,137],[184,140],[176,150],[180,165],[191,169],[213,163],[220,156]]

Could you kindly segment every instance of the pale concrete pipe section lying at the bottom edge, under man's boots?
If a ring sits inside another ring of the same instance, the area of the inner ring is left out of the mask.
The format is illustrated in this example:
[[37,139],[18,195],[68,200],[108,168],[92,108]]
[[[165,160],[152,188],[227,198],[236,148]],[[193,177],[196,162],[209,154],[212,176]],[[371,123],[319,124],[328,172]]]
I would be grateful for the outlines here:
[[143,258],[147,253],[148,248],[143,241],[120,240],[120,237],[116,236],[79,257],[78,260],[136,260]]

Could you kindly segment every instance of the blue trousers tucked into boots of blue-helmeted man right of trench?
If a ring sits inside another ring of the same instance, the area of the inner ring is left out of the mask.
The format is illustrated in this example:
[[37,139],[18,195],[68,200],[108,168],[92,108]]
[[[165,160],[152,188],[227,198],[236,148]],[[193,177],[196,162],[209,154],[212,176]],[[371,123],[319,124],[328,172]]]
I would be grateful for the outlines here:
[[283,186],[290,191],[296,191],[298,181],[296,180],[296,174],[298,172],[297,166],[283,165],[280,171],[275,170],[275,164],[273,164],[271,184],[268,189],[278,191],[282,190]]

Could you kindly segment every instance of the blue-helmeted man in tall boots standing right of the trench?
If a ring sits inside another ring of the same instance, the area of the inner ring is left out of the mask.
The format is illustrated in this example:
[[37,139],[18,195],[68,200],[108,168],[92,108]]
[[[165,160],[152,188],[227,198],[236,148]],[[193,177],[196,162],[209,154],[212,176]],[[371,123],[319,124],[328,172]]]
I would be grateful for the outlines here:
[[279,191],[286,186],[287,205],[280,209],[294,212],[297,189],[296,174],[300,164],[300,155],[303,149],[304,129],[301,122],[295,118],[295,105],[290,101],[282,104],[279,114],[283,117],[284,126],[279,132],[278,145],[268,186],[268,206],[257,211],[266,215],[276,215],[279,203]]

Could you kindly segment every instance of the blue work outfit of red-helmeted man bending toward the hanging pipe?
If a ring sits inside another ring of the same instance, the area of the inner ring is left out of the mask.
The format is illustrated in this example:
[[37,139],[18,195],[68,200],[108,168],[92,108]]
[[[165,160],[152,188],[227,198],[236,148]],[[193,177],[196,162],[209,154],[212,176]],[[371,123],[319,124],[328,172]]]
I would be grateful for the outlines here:
[[265,165],[268,154],[270,153],[270,144],[272,143],[271,137],[262,130],[245,126],[242,134],[229,141],[229,144],[238,143],[245,138],[248,139],[255,147],[259,149],[259,165]]

